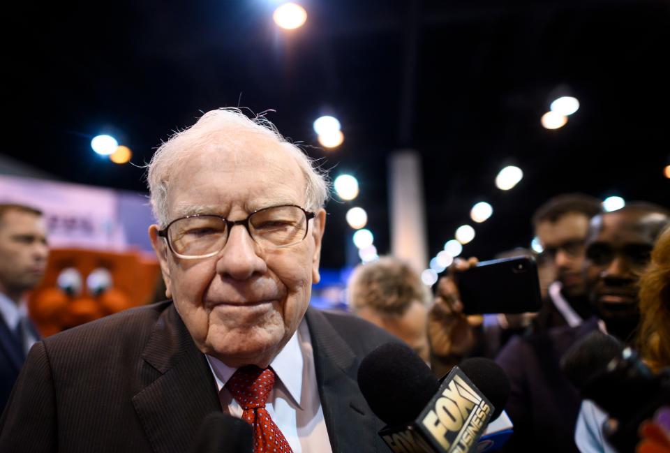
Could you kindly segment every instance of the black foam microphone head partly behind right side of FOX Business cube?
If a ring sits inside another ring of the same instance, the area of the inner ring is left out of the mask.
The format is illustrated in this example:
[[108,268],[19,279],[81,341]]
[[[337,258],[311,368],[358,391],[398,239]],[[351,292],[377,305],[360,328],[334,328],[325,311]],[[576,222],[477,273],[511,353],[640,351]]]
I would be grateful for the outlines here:
[[491,420],[498,418],[505,409],[509,392],[512,391],[505,371],[496,362],[484,357],[465,359],[459,364],[459,368],[493,404]]

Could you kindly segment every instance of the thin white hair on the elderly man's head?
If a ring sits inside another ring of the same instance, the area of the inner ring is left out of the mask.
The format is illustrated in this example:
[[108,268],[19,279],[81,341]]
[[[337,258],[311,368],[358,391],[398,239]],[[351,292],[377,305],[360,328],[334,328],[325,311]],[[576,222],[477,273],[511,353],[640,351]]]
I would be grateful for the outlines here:
[[[327,174],[315,165],[295,144],[286,140],[277,128],[264,116],[248,118],[239,108],[228,107],[211,110],[190,128],[175,132],[167,142],[163,142],[147,165],[147,183],[151,197],[151,209],[158,225],[168,224],[168,191],[170,174],[179,168],[195,151],[208,149],[237,149],[240,133],[251,133],[262,138],[270,138],[289,152],[297,161],[305,176],[306,209],[316,211],[325,205],[328,198]],[[216,144],[217,146],[211,146]]]

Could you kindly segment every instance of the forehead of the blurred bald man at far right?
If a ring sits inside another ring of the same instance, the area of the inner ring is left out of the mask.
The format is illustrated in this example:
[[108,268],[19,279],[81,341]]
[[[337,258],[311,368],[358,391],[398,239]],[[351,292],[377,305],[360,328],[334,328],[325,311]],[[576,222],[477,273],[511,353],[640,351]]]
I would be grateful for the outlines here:
[[623,211],[595,216],[590,223],[587,244],[593,242],[653,245],[666,216],[655,212]]

